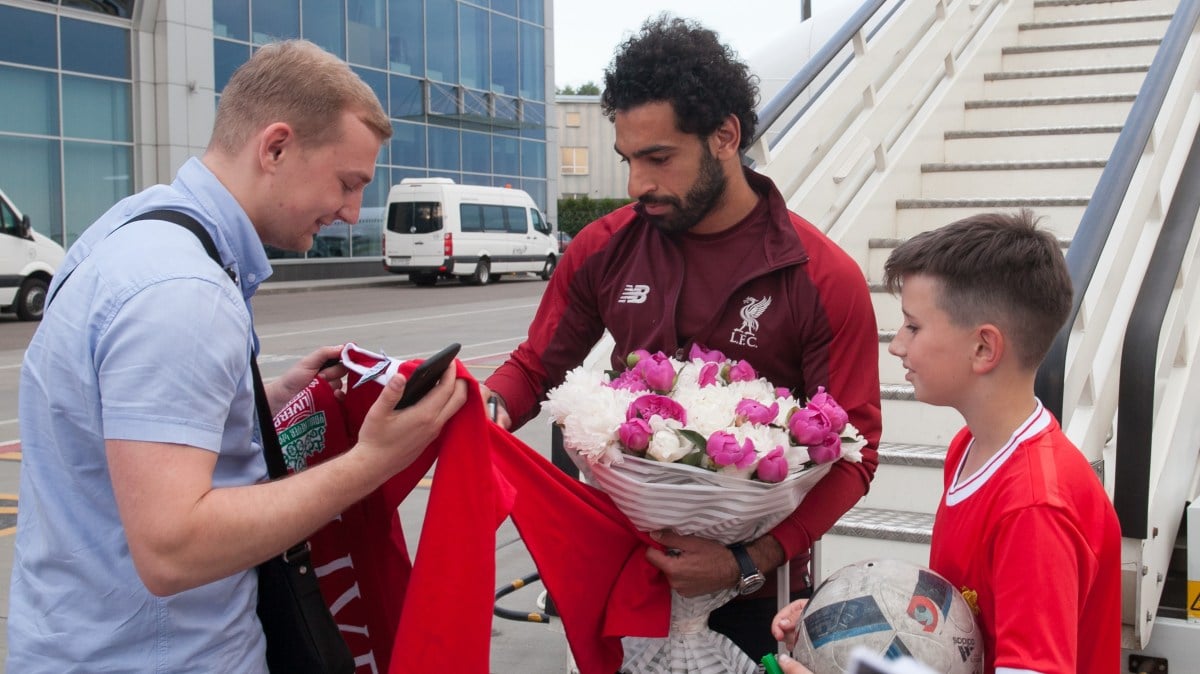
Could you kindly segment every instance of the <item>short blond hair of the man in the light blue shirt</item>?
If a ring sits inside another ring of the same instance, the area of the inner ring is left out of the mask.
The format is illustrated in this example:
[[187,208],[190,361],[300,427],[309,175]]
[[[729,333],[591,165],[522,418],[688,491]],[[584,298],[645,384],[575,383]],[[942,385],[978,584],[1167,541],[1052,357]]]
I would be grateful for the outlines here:
[[272,42],[229,78],[209,149],[236,154],[254,133],[280,121],[302,143],[320,146],[338,139],[347,110],[380,140],[391,138],[374,91],[344,61],[307,40]]

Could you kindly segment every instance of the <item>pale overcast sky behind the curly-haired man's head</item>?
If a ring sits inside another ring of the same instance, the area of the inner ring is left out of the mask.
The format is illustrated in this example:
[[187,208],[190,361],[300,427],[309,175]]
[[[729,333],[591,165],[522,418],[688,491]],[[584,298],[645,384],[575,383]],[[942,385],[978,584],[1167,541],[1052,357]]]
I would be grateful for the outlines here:
[[743,60],[800,22],[800,0],[556,0],[554,84],[601,85],[617,46],[659,12],[715,30]]

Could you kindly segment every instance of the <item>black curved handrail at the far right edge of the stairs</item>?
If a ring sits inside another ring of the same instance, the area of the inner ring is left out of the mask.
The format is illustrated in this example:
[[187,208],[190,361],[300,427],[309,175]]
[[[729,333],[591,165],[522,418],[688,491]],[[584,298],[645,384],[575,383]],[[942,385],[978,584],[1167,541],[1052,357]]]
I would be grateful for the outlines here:
[[1183,267],[1188,241],[1200,213],[1200,132],[1175,185],[1163,229],[1154,243],[1146,277],[1142,279],[1121,351],[1121,389],[1117,393],[1116,483],[1112,506],[1121,522],[1121,535],[1146,538],[1150,514],[1151,440],[1154,434],[1154,390],[1158,375],[1158,345]]

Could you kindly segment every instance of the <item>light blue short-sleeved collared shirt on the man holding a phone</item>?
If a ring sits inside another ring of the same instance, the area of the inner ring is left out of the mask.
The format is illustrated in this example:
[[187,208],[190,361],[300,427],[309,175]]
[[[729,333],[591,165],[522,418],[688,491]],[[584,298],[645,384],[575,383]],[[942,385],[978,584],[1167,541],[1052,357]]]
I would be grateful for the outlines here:
[[[197,218],[238,284],[182,227],[118,229],[156,209]],[[217,452],[214,487],[266,477],[248,300],[270,272],[246,212],[196,158],[172,185],[113,206],[71,246],[20,374],[8,672],[266,670],[253,571],[169,597],[143,585],[104,441]]]

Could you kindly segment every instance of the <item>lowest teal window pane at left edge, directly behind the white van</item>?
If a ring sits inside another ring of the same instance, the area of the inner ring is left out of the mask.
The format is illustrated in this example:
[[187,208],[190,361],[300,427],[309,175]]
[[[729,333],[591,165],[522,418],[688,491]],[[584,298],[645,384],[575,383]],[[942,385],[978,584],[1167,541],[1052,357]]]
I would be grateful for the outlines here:
[[62,243],[59,142],[0,136],[0,157],[5,193],[29,216],[34,229]]

